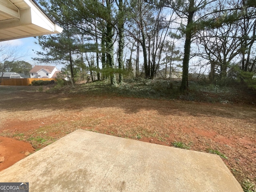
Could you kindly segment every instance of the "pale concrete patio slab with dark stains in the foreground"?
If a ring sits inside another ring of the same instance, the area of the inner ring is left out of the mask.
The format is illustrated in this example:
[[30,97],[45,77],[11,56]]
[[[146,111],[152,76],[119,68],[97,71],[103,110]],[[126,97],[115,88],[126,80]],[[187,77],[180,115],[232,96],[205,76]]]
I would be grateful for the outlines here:
[[221,158],[76,130],[0,172],[30,192],[242,192]]

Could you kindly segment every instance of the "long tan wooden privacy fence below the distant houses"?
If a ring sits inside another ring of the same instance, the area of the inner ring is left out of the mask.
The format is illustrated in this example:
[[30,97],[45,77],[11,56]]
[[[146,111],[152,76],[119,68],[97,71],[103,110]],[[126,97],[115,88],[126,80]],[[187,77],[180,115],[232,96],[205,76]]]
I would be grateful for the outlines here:
[[0,85],[14,85],[14,86],[26,86],[32,84],[32,81],[44,80],[44,81],[51,81],[55,80],[56,78],[26,78],[26,79],[0,79]]

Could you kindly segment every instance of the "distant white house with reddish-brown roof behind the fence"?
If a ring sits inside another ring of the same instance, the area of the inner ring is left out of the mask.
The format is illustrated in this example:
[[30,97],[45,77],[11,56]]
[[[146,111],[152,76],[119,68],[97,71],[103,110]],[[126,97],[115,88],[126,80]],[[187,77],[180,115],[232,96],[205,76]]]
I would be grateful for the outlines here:
[[56,66],[36,65],[30,70],[30,78],[57,78],[60,71]]

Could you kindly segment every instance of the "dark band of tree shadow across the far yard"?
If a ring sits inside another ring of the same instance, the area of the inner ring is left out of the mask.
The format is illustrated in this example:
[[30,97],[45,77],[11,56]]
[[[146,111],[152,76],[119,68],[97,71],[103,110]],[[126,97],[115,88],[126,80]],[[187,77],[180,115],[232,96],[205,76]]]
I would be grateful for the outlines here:
[[[93,96],[81,94],[47,94],[31,92],[30,86],[12,89],[0,87],[1,110],[82,110],[84,108],[117,108],[126,114],[136,114],[141,110],[157,111],[161,116],[206,116],[253,120],[256,107],[242,104],[202,103],[179,100],[157,100],[114,96]],[[17,86],[18,87],[18,86]]]

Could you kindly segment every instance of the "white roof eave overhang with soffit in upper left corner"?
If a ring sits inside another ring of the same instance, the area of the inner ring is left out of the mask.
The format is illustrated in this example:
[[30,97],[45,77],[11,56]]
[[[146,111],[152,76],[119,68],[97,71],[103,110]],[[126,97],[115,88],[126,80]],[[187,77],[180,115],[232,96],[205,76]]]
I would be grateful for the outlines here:
[[34,0],[0,0],[0,41],[61,33]]

